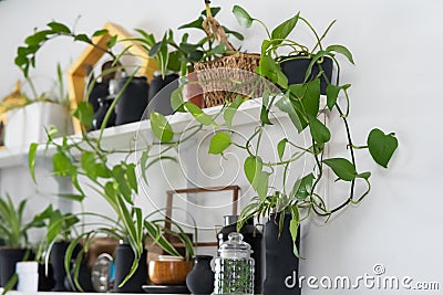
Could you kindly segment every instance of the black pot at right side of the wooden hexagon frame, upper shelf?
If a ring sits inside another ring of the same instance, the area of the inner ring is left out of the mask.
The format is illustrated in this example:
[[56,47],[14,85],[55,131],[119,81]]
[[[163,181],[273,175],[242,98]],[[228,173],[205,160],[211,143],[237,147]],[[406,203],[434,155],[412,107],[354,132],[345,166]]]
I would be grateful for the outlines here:
[[[123,77],[119,80],[116,94],[120,93],[127,78]],[[147,93],[148,84],[146,77],[133,77],[115,106],[115,125],[138,122],[147,106]]]

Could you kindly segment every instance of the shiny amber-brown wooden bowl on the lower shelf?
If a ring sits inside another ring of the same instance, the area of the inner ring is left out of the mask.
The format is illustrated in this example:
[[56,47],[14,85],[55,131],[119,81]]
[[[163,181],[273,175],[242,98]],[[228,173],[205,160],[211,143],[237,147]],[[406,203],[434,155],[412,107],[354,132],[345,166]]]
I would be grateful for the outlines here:
[[192,268],[190,261],[151,261],[148,275],[155,285],[184,285]]

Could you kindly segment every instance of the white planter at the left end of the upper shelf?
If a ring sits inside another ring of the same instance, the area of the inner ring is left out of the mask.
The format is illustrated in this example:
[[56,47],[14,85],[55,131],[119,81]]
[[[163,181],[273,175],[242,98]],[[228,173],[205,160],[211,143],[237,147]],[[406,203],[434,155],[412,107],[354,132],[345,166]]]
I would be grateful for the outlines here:
[[8,149],[28,149],[31,143],[48,139],[45,127],[53,125],[58,136],[72,134],[72,119],[68,107],[39,102],[8,112],[4,146]]

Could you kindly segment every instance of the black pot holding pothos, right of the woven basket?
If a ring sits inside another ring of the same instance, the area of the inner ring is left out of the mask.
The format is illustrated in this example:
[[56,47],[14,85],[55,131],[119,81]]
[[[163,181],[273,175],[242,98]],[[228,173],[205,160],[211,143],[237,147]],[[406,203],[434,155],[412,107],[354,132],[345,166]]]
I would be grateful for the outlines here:
[[[281,71],[288,77],[288,84],[301,84],[305,81],[306,71],[308,71],[309,64],[311,62],[310,59],[295,59],[297,56],[286,56],[281,59]],[[329,81],[332,78],[332,59],[324,56],[323,63],[321,64],[321,69],[324,72],[326,76]],[[308,82],[313,80],[318,73],[320,72],[319,65],[315,64],[312,66],[311,75],[308,78]],[[328,86],[327,81],[323,76],[320,77],[320,93],[326,94],[326,87]]]

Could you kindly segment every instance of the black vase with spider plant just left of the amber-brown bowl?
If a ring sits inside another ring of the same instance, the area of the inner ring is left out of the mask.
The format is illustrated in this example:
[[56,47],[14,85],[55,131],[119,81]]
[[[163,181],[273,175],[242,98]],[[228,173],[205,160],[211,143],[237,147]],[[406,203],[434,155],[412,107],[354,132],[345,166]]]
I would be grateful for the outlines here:
[[134,275],[121,287],[119,285],[125,280],[134,262],[134,252],[128,244],[121,244],[115,249],[115,282],[114,291],[119,293],[143,293],[143,285],[147,281],[147,251],[144,250],[138,260],[138,268]]

